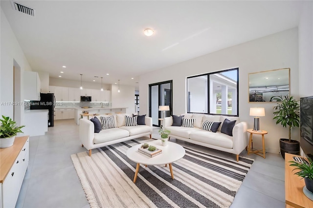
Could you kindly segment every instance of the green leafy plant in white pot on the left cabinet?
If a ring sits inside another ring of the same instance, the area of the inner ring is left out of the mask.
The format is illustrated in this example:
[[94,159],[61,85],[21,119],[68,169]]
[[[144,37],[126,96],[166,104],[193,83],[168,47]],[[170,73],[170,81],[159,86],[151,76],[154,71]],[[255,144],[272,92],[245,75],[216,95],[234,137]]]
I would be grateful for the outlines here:
[[14,144],[16,134],[23,133],[21,129],[24,125],[16,126],[15,121],[5,116],[2,116],[0,122],[0,148],[10,147]]

